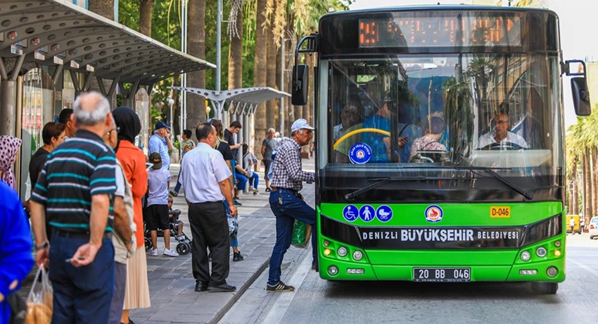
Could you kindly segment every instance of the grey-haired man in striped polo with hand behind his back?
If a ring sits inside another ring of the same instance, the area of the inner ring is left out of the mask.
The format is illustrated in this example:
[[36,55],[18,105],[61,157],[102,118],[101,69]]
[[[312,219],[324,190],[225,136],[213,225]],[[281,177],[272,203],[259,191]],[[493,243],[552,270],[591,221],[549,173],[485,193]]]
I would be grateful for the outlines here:
[[79,96],[73,110],[75,138],[52,151],[31,197],[36,261],[51,268],[52,323],[108,323],[116,158],[102,136],[112,114],[97,92]]

